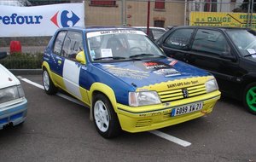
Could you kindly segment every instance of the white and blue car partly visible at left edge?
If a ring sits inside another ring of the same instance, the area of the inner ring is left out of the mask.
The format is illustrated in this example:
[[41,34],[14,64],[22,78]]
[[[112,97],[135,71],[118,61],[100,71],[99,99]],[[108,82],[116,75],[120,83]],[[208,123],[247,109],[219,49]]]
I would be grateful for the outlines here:
[[[0,52],[0,59],[7,56]],[[0,130],[8,125],[22,124],[26,119],[27,101],[20,81],[0,64]]]

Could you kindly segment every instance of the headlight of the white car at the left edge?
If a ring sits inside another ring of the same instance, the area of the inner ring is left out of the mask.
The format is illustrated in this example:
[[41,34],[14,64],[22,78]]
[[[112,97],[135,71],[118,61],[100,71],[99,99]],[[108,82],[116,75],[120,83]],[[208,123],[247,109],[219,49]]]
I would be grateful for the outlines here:
[[24,91],[21,85],[8,87],[0,90],[0,103],[6,102],[6,101],[12,101],[23,96],[24,96]]

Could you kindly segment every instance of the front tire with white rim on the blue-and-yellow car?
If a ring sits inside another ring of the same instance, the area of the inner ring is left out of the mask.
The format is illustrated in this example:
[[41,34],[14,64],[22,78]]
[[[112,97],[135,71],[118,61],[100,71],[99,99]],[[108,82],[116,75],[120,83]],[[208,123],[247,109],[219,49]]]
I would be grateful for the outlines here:
[[118,136],[121,129],[112,104],[105,95],[96,94],[93,100],[93,120],[96,130],[104,138]]

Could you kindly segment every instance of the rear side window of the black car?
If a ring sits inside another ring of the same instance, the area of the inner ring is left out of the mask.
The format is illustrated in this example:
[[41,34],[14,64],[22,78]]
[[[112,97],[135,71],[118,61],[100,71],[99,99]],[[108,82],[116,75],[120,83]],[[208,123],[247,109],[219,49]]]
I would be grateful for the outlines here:
[[183,49],[188,43],[194,29],[177,29],[172,32],[164,44],[173,49]]

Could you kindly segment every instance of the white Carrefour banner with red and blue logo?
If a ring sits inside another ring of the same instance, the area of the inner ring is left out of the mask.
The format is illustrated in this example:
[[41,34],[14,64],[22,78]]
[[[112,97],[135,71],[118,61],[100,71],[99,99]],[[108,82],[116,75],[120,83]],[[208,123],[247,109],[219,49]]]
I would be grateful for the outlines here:
[[0,37],[52,36],[58,28],[84,26],[84,4],[37,7],[0,5]]

